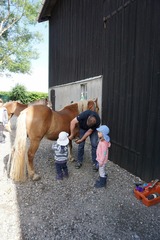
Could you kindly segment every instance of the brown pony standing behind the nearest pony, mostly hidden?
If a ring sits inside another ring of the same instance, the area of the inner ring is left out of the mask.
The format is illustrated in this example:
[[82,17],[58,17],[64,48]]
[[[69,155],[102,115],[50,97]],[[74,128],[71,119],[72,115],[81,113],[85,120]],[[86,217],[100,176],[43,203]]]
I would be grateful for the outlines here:
[[8,113],[8,124],[6,126],[6,129],[11,132],[11,124],[10,124],[10,119],[13,115],[15,116],[19,116],[19,114],[21,113],[21,111],[23,111],[24,109],[26,109],[27,107],[29,107],[30,105],[46,105],[49,108],[52,108],[52,104],[50,103],[50,101],[48,101],[48,98],[42,98],[42,99],[38,99],[35,100],[33,102],[30,102],[28,104],[23,104],[21,102],[18,101],[10,101],[10,102],[6,102],[4,104],[4,107],[7,109],[7,113]]

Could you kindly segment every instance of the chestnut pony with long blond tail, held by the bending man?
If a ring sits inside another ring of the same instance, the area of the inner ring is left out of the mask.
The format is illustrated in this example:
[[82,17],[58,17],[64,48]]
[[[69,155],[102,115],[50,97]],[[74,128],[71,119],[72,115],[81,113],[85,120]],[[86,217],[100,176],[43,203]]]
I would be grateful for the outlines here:
[[[61,131],[69,133],[70,121],[86,109],[98,112],[97,99],[72,103],[60,111],[52,111],[42,105],[29,106],[22,111],[17,119],[16,138],[10,156],[10,177],[15,181],[25,181],[28,170],[29,177],[38,180],[40,177],[34,171],[33,160],[42,138],[57,140]],[[26,151],[27,136],[30,140],[28,151]],[[70,160],[71,150],[70,141]]]

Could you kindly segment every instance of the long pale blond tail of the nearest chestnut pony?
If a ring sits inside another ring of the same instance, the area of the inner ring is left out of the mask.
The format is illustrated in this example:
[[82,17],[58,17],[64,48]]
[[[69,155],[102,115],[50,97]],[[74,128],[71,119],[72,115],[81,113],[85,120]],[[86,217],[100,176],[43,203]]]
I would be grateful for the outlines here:
[[14,145],[11,151],[10,178],[17,182],[26,180],[27,168],[27,130],[26,111],[22,111],[17,119],[17,129]]

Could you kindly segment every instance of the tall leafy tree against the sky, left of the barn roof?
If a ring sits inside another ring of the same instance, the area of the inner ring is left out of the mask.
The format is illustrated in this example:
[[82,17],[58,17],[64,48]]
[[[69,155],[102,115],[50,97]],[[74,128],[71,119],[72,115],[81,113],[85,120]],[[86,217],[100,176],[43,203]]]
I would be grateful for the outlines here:
[[37,23],[40,0],[0,0],[0,71],[30,73],[34,46],[42,36],[31,30]]

